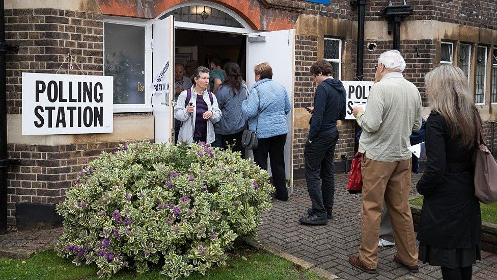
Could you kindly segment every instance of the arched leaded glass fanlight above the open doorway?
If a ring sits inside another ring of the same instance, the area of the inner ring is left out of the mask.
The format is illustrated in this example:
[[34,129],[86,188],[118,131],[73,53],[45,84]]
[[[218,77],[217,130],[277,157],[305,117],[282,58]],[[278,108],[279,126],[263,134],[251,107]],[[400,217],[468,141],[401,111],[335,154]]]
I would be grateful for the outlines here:
[[159,19],[166,18],[170,15],[174,16],[174,21],[243,28],[241,23],[231,15],[209,6],[192,5],[180,7],[159,17]]

